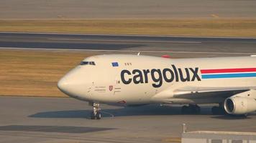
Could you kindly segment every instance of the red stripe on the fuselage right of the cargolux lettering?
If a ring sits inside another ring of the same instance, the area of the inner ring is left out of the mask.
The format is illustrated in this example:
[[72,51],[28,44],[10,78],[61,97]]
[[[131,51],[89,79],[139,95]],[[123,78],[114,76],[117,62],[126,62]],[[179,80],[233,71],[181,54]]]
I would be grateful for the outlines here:
[[254,72],[256,68],[242,69],[201,69],[201,74],[227,73],[227,72]]

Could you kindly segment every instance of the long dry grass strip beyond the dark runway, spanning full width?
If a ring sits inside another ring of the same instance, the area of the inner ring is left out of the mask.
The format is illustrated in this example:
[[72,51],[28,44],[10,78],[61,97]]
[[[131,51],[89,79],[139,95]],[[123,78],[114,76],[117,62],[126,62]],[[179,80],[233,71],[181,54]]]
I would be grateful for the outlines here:
[[256,37],[256,19],[2,20],[0,31]]

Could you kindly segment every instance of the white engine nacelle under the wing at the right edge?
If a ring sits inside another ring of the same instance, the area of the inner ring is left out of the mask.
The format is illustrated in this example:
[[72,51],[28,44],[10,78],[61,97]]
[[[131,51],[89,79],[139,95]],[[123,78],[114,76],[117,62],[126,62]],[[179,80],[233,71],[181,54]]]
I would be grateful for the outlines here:
[[247,114],[256,111],[256,100],[249,97],[229,97],[225,99],[224,109],[228,114]]

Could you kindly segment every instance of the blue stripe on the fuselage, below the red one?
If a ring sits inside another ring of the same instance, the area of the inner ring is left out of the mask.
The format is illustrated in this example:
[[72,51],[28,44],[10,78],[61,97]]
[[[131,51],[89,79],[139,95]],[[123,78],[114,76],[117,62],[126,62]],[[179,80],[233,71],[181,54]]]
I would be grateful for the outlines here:
[[256,73],[239,73],[239,74],[202,74],[202,79],[223,79],[237,77],[256,77]]

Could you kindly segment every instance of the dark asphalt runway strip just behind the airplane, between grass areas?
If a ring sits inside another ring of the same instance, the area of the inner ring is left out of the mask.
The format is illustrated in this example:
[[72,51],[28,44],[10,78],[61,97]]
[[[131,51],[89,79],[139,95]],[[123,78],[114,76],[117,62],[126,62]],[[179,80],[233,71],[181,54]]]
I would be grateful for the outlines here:
[[0,48],[79,49],[101,53],[141,51],[177,57],[248,56],[256,54],[256,39],[0,33]]

